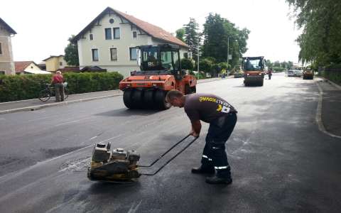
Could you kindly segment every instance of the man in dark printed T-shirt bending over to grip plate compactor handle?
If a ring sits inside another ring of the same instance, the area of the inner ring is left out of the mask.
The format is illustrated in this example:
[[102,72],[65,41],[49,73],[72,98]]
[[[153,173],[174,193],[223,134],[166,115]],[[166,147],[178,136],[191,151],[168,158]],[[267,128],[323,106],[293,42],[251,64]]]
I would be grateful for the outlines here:
[[166,101],[174,107],[183,107],[192,124],[190,135],[198,137],[201,130],[201,121],[210,124],[206,136],[206,144],[202,153],[201,165],[193,168],[195,174],[215,174],[207,177],[206,182],[230,184],[232,177],[225,143],[231,135],[237,122],[237,111],[224,99],[213,94],[183,95],[178,90],[171,90],[166,95]]

